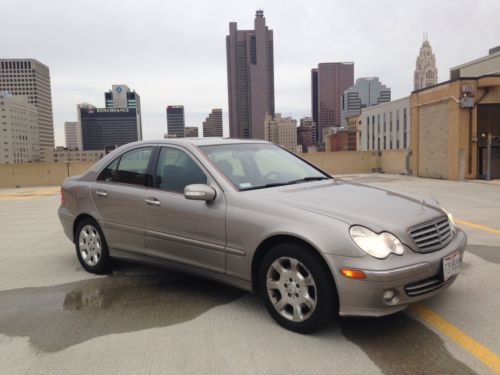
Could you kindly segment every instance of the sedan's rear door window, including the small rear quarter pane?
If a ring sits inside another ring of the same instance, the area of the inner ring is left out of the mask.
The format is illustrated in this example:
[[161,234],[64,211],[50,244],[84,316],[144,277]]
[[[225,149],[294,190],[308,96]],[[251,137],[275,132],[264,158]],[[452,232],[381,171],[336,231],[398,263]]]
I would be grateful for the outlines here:
[[142,147],[127,151],[109,164],[101,172],[98,180],[145,185],[149,159],[152,153],[153,147]]

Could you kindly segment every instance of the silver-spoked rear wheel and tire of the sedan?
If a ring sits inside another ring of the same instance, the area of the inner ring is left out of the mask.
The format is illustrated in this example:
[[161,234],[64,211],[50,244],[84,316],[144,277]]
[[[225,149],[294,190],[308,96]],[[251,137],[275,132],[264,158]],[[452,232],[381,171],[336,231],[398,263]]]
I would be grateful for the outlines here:
[[111,259],[108,245],[99,224],[91,218],[83,219],[75,231],[76,256],[82,267],[95,274],[107,273]]

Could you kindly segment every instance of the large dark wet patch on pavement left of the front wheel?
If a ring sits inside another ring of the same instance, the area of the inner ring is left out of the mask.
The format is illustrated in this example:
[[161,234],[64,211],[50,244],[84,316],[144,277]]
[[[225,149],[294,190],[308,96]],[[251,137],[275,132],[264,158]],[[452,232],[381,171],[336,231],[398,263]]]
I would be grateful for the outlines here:
[[167,327],[245,292],[173,273],[115,274],[58,286],[0,292],[0,333],[56,352],[96,337]]

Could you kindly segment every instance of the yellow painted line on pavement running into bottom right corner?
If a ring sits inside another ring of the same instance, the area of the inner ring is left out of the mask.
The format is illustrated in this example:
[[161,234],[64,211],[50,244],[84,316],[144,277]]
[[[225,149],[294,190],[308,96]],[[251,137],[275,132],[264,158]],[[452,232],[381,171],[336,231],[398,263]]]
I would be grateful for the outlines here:
[[474,355],[477,359],[483,362],[486,366],[491,368],[495,373],[500,374],[500,356],[480,344],[472,337],[467,336],[464,332],[459,330],[453,324],[446,321],[443,317],[436,314],[434,311],[428,307],[416,303],[411,305],[411,311],[413,311],[420,318],[425,320],[427,323],[432,325],[441,333],[448,336],[450,339],[455,341],[462,348],[467,350],[469,353]]

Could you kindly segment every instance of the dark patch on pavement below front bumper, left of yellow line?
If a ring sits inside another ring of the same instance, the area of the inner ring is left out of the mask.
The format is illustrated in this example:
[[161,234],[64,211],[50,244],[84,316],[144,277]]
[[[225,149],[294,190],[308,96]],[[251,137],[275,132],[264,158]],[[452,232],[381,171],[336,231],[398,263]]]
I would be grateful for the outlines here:
[[340,327],[384,374],[475,374],[448,352],[436,333],[404,312],[343,318]]

